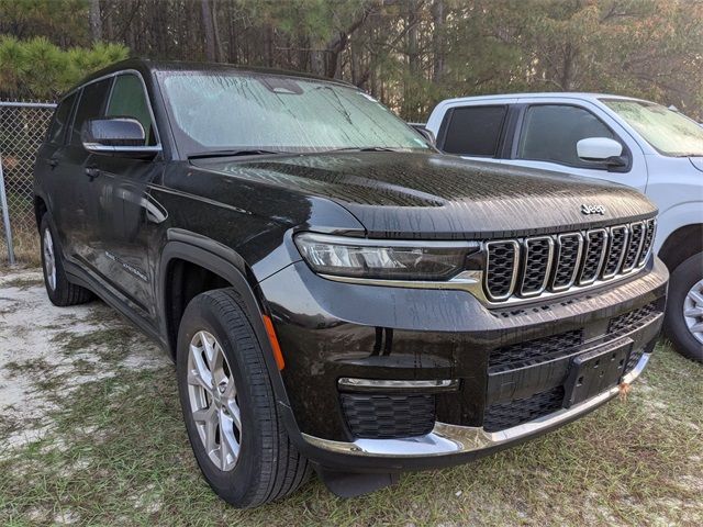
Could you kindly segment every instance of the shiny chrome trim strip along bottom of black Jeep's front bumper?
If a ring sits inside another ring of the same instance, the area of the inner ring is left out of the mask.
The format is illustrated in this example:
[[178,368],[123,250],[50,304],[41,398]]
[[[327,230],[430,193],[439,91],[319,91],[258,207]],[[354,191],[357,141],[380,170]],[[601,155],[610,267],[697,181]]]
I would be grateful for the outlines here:
[[[650,354],[643,354],[637,366],[623,378],[631,383],[645,369]],[[357,439],[354,442],[332,441],[303,434],[310,445],[331,452],[348,456],[368,456],[381,458],[423,458],[472,452],[512,442],[528,437],[600,406],[617,395],[618,386],[613,386],[583,403],[563,408],[544,417],[524,423],[501,431],[489,433],[472,426],[436,423],[434,429],[425,435],[401,439]]]

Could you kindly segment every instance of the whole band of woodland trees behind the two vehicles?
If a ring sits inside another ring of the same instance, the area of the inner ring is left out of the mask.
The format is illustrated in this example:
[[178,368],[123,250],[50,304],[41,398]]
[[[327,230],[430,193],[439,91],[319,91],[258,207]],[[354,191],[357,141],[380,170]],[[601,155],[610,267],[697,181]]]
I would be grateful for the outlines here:
[[52,97],[126,46],[342,78],[413,121],[448,97],[549,90],[703,120],[701,0],[0,0],[1,35],[0,97]]

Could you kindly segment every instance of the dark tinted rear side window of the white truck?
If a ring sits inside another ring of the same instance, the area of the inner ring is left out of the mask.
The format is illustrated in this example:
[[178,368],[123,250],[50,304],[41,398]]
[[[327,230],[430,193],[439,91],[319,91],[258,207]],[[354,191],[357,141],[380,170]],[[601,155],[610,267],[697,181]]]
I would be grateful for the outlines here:
[[495,157],[507,106],[455,108],[442,149],[464,156]]

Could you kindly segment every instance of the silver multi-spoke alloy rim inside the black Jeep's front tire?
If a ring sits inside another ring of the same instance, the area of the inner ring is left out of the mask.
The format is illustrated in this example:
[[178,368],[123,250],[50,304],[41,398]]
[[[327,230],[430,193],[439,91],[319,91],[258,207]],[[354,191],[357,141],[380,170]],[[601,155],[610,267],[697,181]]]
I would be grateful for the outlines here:
[[198,435],[220,470],[234,469],[242,446],[242,418],[232,369],[217,339],[198,332],[188,350],[188,399]]

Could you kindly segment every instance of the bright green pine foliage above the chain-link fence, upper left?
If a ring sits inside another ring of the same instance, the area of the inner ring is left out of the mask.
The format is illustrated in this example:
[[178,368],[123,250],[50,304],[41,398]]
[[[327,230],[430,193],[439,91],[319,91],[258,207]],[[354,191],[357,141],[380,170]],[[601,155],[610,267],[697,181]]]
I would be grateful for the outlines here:
[[98,43],[67,51],[37,36],[0,36],[0,97],[55,99],[86,75],[126,58],[120,44]]

